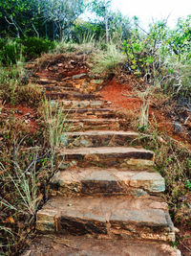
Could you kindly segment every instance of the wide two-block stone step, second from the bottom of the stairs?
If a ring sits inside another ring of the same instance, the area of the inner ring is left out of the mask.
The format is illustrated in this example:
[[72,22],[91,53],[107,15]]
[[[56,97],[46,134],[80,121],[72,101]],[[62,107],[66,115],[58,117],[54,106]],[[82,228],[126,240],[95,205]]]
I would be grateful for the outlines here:
[[157,197],[53,197],[37,212],[36,229],[70,235],[175,240],[168,206]]

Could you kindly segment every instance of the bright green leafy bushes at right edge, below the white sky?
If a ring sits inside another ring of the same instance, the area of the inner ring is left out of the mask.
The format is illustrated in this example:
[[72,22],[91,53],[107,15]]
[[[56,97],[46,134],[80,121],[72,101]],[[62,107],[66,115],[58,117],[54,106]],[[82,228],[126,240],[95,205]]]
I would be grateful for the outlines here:
[[[150,83],[160,84],[172,95],[191,95],[191,16],[179,20],[175,30],[169,30],[165,21],[150,25],[149,33],[142,35],[138,27],[123,42],[129,70]],[[181,29],[180,29],[181,28]]]

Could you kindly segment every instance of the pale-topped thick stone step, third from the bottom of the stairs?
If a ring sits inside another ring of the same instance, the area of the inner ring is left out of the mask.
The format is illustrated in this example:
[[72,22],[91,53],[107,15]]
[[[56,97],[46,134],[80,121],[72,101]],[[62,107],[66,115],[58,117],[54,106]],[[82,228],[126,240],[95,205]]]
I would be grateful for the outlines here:
[[129,169],[86,168],[59,171],[50,182],[52,196],[62,195],[130,195],[159,194],[165,190],[164,178],[158,172]]

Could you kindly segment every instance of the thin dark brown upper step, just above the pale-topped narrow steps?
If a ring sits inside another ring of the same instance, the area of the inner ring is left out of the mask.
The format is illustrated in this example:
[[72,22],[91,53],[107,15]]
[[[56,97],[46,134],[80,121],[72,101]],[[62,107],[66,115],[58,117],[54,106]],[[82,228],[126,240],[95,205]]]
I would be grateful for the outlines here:
[[81,94],[77,92],[46,92],[46,97],[50,100],[58,100],[58,99],[64,99],[64,100],[96,100],[99,99],[99,96],[96,96],[94,94]]

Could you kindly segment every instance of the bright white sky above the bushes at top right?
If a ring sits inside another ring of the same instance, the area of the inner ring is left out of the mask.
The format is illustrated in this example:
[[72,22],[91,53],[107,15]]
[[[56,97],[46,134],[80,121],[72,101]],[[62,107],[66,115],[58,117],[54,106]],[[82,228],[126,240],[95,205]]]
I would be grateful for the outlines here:
[[179,17],[191,14],[191,0],[113,0],[112,8],[127,17],[138,16],[143,28],[152,17],[156,21],[169,15],[167,25],[173,28]]

